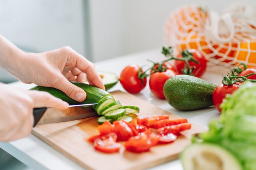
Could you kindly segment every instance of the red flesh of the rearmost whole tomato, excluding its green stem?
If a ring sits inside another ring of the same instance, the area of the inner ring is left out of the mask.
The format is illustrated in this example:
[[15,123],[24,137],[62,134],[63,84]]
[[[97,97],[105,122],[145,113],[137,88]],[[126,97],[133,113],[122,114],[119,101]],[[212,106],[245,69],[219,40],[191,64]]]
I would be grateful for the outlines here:
[[[196,77],[201,77],[205,70],[206,70],[206,66],[207,66],[207,60],[205,59],[205,57],[196,49],[188,49],[189,53],[192,53],[192,57],[198,61],[198,64],[194,61],[188,61],[188,64],[190,65],[190,68],[192,69],[193,67],[194,70],[192,71],[192,75],[196,76]],[[182,53],[179,53],[177,55],[177,58],[184,58],[182,57]],[[182,72],[182,70],[184,68],[186,68],[186,64],[185,61],[180,61],[180,60],[175,60],[174,61],[174,65],[176,66],[176,72],[178,74],[184,74]]]

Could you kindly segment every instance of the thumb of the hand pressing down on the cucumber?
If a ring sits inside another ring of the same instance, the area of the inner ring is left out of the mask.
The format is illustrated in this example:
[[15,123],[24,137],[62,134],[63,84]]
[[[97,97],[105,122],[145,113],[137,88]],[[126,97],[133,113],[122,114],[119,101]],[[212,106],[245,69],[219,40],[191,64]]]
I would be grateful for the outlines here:
[[86,92],[84,92],[84,90],[82,88],[72,84],[64,76],[60,80],[60,82],[58,82],[56,84],[56,86],[54,88],[61,90],[66,95],[68,95],[68,97],[70,97],[78,102],[82,102],[86,98]]

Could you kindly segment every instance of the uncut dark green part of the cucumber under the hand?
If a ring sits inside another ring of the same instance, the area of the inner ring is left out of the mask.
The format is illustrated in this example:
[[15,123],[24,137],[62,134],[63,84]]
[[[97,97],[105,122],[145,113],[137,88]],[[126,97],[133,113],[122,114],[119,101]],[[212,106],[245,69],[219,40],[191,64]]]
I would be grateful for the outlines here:
[[52,94],[53,96],[60,98],[60,99],[64,100],[65,102],[68,102],[68,104],[70,104],[70,105],[71,104],[73,105],[73,104],[98,103],[101,98],[103,98],[106,95],[110,95],[110,93],[106,92],[106,90],[103,90],[96,86],[92,86],[92,85],[80,83],[80,82],[72,82],[72,83],[74,85],[82,88],[86,92],[87,96],[84,101],[78,102],[76,100],[73,100],[72,98],[68,97],[64,92],[62,92],[56,88],[52,88],[52,87],[35,86],[35,87],[31,88],[30,90],[39,90],[39,91],[48,92],[48,93]]

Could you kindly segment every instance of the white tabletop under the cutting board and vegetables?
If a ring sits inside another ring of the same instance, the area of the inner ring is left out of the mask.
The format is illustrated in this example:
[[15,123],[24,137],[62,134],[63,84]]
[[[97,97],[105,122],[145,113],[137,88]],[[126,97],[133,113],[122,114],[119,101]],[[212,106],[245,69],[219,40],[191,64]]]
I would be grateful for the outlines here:
[[[115,72],[120,75],[122,69],[128,64],[138,64],[140,66],[146,65],[150,66],[150,62],[147,59],[152,61],[160,61],[164,59],[164,55],[161,54],[161,48],[153,49],[149,51],[143,51],[141,53],[135,53],[132,55],[126,55],[122,57],[117,57],[105,61],[100,61],[95,63],[97,70],[104,70]],[[148,68],[145,66],[145,68]],[[222,80],[222,73],[212,72],[211,69],[208,69],[206,74],[202,77],[205,80],[208,80],[214,84],[220,84]],[[226,74],[224,72],[224,74]],[[24,84],[22,82],[15,82],[10,84],[10,86],[15,86],[22,89],[29,89],[34,84]],[[111,89],[125,91],[120,83]],[[146,100],[149,103],[152,103],[162,109],[165,109],[171,113],[174,113],[180,117],[187,118],[188,121],[200,125],[204,128],[208,128],[208,122],[210,119],[218,119],[219,112],[214,107],[208,107],[206,109],[196,110],[196,111],[179,111],[172,108],[168,105],[166,100],[160,100],[156,98],[149,89],[147,85],[140,94],[136,94],[137,97]],[[13,141],[10,143],[0,142],[0,147],[6,152],[28,165],[29,167],[35,170],[82,170],[81,166],[56,151],[52,147],[48,146],[46,143],[36,138],[34,135],[30,135],[24,139]],[[179,159],[173,160],[155,167],[150,168],[150,170],[183,170],[182,164]]]

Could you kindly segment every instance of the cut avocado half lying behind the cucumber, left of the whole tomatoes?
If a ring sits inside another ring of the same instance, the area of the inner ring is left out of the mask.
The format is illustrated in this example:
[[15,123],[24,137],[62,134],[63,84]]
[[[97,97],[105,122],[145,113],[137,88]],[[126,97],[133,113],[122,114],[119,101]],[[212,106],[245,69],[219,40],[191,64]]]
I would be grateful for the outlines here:
[[[106,72],[106,71],[100,71],[100,70],[97,70],[97,72],[98,74],[100,74],[100,77],[102,78],[102,82],[105,86],[106,91],[114,87],[119,80],[117,74],[113,72]],[[89,84],[88,81],[84,83]]]

